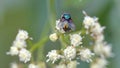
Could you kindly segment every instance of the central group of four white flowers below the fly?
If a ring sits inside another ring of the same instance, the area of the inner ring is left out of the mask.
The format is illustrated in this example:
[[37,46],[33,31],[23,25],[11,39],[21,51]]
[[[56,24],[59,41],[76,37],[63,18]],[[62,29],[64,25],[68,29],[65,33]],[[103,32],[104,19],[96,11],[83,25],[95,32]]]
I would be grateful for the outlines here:
[[94,53],[92,53],[90,49],[81,48],[80,50],[77,50],[77,47],[79,47],[79,45],[82,44],[82,37],[80,36],[80,34],[71,34],[70,42],[71,46],[67,46],[64,50],[60,51],[62,52],[62,54],[59,54],[57,50],[52,50],[51,52],[48,52],[47,62],[51,60],[52,63],[54,63],[58,59],[71,61],[73,59],[76,59],[77,56],[80,57],[82,61],[92,62],[92,57],[94,56]]

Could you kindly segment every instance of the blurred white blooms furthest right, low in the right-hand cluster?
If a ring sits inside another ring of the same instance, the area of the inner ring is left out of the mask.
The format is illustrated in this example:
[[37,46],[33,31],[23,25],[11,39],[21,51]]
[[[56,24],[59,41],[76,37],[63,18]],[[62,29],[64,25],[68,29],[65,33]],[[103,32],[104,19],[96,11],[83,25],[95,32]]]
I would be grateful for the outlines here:
[[112,57],[112,47],[107,43],[96,43],[94,46],[94,52],[97,55],[105,56],[105,57]]

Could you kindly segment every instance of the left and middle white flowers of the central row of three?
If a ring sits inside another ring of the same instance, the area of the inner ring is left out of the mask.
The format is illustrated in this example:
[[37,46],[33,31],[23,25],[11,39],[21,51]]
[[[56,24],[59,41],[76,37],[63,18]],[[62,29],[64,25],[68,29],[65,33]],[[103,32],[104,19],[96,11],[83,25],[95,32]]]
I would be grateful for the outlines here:
[[59,54],[57,50],[52,50],[48,52],[46,57],[48,57],[47,62],[51,60],[52,63],[59,59],[72,60],[76,57],[76,49],[73,46],[68,46],[64,49],[63,54]]

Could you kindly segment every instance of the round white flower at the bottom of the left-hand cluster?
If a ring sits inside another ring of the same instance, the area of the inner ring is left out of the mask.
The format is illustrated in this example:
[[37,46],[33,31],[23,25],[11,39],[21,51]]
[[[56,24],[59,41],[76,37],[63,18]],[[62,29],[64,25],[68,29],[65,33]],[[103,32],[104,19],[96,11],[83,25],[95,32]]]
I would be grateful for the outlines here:
[[31,53],[28,50],[22,48],[19,52],[20,61],[23,61],[24,63],[26,63],[30,61],[30,58],[31,58]]

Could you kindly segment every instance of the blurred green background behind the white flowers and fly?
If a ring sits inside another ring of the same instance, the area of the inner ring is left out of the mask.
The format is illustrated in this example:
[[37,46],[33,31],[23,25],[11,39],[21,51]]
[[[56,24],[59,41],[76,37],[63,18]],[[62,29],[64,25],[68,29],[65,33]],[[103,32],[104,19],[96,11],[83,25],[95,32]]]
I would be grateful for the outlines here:
[[[9,68],[15,58],[7,56],[6,52],[19,29],[27,30],[36,43],[52,33],[54,27],[51,26],[64,12],[71,14],[79,29],[82,10],[99,17],[101,25],[107,27],[105,38],[112,44],[115,54],[114,58],[108,59],[108,68],[120,68],[120,0],[0,0],[0,68]],[[57,48],[53,43],[46,46]],[[45,49],[52,49],[48,48]],[[78,65],[78,68],[83,67],[88,68],[88,65]]]

